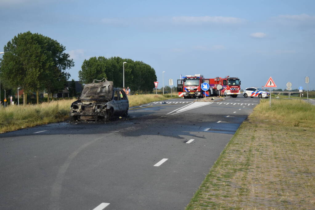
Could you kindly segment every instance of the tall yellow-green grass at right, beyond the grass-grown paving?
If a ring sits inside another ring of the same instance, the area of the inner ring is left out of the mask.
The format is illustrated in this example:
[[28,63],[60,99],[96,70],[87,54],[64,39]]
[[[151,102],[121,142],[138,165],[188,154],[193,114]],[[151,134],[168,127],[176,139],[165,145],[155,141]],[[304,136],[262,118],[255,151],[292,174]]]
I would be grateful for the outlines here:
[[303,100],[272,99],[271,108],[269,100],[261,100],[260,106],[256,106],[254,110],[252,116],[255,118],[315,128],[315,106]]

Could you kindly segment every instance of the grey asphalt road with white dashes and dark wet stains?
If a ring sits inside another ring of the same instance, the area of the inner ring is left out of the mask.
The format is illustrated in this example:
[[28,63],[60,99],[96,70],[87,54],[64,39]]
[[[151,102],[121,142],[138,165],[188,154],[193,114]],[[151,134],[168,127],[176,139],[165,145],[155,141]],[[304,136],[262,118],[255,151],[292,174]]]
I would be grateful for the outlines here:
[[170,99],[1,134],[0,209],[184,209],[259,100]]

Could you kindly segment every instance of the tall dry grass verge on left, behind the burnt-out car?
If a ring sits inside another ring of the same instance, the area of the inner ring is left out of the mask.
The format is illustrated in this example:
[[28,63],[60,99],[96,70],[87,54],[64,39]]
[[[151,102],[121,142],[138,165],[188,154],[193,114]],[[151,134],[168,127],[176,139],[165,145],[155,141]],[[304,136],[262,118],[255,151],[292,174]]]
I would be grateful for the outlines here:
[[[173,94],[174,97],[174,94]],[[177,95],[175,95],[177,98]],[[129,106],[171,98],[171,94],[144,94],[129,96]],[[65,121],[69,118],[70,105],[76,99],[43,102],[39,105],[10,105],[0,107],[0,133]]]

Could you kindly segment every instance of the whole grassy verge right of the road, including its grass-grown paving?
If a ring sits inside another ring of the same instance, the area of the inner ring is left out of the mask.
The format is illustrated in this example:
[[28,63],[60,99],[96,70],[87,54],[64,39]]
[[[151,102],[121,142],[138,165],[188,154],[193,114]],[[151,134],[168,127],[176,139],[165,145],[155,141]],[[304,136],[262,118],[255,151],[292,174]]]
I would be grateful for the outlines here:
[[186,207],[314,209],[315,106],[262,100]]

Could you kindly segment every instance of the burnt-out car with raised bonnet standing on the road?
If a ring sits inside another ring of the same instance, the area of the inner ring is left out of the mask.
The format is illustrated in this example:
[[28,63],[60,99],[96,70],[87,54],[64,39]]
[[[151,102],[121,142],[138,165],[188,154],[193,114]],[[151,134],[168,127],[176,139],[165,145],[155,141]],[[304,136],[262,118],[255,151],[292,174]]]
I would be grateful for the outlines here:
[[127,116],[128,109],[123,89],[113,88],[113,82],[104,78],[84,85],[78,100],[71,104],[70,119],[106,121],[114,115]]

